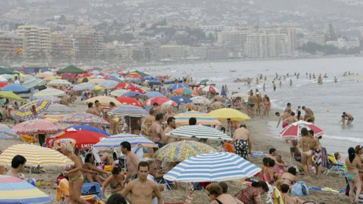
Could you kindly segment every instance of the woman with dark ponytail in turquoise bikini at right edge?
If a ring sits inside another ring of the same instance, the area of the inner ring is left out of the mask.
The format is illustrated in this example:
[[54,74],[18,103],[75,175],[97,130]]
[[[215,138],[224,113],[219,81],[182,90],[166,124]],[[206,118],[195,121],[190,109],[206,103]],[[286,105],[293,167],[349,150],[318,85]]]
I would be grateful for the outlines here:
[[345,160],[345,164],[347,165],[347,179],[349,182],[349,197],[351,203],[358,203],[360,193],[356,193],[355,199],[353,196],[353,191],[356,189],[356,192],[360,192],[362,189],[362,184],[360,182],[358,169],[362,167],[362,163],[360,157],[355,154],[355,150],[353,147],[348,149],[348,158]]

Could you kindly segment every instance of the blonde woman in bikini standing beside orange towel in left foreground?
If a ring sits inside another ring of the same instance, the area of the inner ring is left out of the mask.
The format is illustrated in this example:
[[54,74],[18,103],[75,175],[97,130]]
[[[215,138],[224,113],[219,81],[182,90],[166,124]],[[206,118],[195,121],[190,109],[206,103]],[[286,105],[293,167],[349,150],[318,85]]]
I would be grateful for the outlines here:
[[84,181],[81,173],[82,165],[76,154],[72,152],[72,145],[69,142],[63,142],[61,143],[61,148],[59,150],[62,154],[74,162],[74,166],[71,166],[68,168],[69,170],[66,170],[65,172],[65,176],[69,178],[69,197],[72,203],[89,204],[80,196]]

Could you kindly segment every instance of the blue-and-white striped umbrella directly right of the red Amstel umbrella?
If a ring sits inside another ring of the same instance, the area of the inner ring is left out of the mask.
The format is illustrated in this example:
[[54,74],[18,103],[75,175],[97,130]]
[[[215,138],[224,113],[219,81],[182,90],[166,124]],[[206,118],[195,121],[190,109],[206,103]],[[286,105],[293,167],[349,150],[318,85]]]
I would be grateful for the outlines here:
[[109,150],[110,148],[120,148],[121,142],[130,142],[131,147],[156,147],[157,144],[150,141],[148,138],[136,134],[117,134],[102,138],[93,146],[98,150]]

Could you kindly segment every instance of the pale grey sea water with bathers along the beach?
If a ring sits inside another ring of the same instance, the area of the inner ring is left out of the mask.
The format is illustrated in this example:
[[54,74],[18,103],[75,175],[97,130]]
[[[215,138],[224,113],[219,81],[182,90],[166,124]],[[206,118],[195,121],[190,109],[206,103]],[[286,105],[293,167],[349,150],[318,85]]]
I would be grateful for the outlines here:
[[[262,96],[270,97],[273,108],[285,108],[286,103],[292,104],[295,112],[297,106],[310,108],[315,115],[315,125],[325,131],[321,140],[329,153],[335,151],[347,155],[348,147],[363,145],[363,58],[319,58],[319,59],[291,59],[269,61],[233,61],[220,63],[195,63],[177,64],[151,67],[153,74],[169,74],[175,77],[192,76],[193,80],[210,79],[221,89],[227,84],[229,93],[238,91],[247,94],[249,89],[259,89]],[[146,69],[147,70],[147,69]],[[230,72],[236,70],[236,72]],[[354,75],[343,76],[345,71]],[[300,72],[299,79],[294,72]],[[308,74],[315,74],[316,79],[309,79]],[[289,73],[290,78],[284,80],[281,77],[282,87],[276,81],[277,89],[273,91],[272,80],[275,73],[280,76]],[[317,78],[327,73],[328,78],[323,79],[323,84],[318,85]],[[359,75],[355,75],[358,73]],[[257,74],[267,76],[267,81],[255,83]],[[338,83],[334,83],[334,76]],[[234,83],[237,78],[254,78],[251,87],[245,83]],[[293,86],[289,86],[289,80],[293,80]],[[266,92],[262,90],[262,84],[266,83]],[[239,88],[239,89],[238,89]],[[351,113],[354,122],[349,126],[338,123],[342,112]],[[271,113],[274,114],[274,113]],[[302,111],[302,115],[304,115]],[[269,122],[272,137],[281,130],[276,128],[276,121]]]

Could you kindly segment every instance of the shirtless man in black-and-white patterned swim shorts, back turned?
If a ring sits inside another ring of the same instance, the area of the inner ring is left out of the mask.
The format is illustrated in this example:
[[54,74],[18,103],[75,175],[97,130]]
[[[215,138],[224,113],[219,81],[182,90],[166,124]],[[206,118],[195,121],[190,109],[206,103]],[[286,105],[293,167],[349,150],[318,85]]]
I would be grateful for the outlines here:
[[246,125],[240,125],[240,128],[234,130],[233,134],[234,154],[239,155],[244,159],[249,159],[252,151],[252,141],[250,132]]

